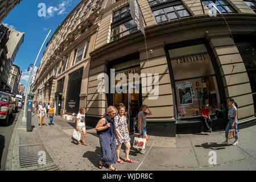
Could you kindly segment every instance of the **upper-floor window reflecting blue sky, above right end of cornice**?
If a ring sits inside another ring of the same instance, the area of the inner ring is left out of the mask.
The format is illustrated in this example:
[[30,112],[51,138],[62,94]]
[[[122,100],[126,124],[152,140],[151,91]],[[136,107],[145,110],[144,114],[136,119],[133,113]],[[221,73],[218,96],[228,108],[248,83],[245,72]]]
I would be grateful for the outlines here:
[[226,2],[225,0],[203,1],[203,3],[214,14],[237,13],[237,11],[234,10],[233,7],[231,5],[229,5],[229,3]]

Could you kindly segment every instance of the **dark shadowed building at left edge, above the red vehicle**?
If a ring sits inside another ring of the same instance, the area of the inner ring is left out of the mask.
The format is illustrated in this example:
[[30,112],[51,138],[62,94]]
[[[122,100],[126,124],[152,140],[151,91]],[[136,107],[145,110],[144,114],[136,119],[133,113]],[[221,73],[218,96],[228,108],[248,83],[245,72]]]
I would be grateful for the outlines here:
[[7,84],[9,78],[10,61],[7,59],[7,42],[9,40],[10,31],[7,27],[0,24],[0,90],[10,89]]

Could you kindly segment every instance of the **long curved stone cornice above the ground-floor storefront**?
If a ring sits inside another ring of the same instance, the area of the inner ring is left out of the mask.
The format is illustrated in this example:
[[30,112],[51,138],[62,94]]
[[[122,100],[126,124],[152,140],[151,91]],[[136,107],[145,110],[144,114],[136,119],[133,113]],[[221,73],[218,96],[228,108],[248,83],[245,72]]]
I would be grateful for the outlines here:
[[[256,15],[251,14],[225,14],[225,20],[228,24],[255,24]],[[163,34],[170,34],[171,32],[184,31],[191,28],[207,27],[207,26],[222,26],[226,25],[221,14],[216,17],[209,15],[191,16],[172,20],[171,22],[156,24],[155,26],[145,27],[146,38],[153,38]],[[106,55],[116,49],[133,44],[135,42],[143,41],[144,36],[141,31],[133,32],[132,34],[123,36],[113,42],[105,44],[94,51],[90,52],[92,59],[96,59],[102,55]]]

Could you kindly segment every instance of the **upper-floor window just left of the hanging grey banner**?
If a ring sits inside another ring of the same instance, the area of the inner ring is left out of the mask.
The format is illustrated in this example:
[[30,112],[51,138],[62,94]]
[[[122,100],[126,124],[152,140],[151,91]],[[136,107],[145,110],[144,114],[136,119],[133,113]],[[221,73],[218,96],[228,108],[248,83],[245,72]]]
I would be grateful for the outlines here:
[[130,6],[123,7],[113,14],[111,40],[121,38],[122,36],[137,31],[137,25],[131,18]]

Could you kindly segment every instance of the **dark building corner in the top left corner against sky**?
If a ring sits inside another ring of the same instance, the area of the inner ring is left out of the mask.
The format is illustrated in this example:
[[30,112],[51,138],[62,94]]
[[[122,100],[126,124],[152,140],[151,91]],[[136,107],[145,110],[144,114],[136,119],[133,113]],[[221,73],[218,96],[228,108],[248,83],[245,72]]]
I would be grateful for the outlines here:
[[0,1],[0,23],[6,18],[7,15],[17,6],[22,0],[8,0]]

